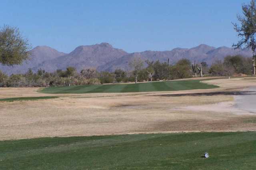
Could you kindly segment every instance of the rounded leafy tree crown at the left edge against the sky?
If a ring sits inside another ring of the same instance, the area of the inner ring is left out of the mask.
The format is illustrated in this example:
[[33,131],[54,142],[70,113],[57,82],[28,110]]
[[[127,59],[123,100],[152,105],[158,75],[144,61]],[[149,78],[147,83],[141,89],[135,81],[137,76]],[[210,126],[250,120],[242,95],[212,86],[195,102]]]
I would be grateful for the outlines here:
[[30,46],[18,28],[4,26],[0,30],[0,63],[17,65],[28,59]]

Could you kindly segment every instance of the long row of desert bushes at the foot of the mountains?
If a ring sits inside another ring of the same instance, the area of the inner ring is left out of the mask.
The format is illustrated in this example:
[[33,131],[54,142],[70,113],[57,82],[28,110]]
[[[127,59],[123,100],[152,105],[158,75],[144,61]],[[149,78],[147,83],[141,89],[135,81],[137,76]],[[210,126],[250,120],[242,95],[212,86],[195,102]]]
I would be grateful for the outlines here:
[[[181,59],[175,65],[160,63],[160,61],[146,61],[147,67],[135,71],[116,69],[113,73],[96,69],[83,69],[78,73],[74,67],[65,71],[60,69],[53,73],[38,70],[33,73],[31,69],[25,74],[12,74],[7,76],[0,71],[0,87],[48,87],[68,85],[98,85],[103,83],[133,82],[135,75],[138,81],[158,81],[189,78],[194,75],[188,59]],[[227,56],[224,61],[216,61],[209,68],[207,63],[200,63],[204,75],[212,76],[234,75],[235,73],[252,74],[252,59],[240,55]]]

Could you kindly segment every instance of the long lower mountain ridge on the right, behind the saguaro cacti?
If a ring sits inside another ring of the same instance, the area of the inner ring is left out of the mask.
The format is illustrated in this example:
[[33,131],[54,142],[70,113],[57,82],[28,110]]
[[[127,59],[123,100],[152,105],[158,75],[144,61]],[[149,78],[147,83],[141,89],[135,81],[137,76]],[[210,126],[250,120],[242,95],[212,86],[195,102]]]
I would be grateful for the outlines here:
[[105,65],[101,65],[98,67],[98,70],[107,70],[114,71],[115,69],[131,69],[128,66],[128,63],[132,61],[135,57],[140,57],[143,61],[149,59],[150,61],[160,62],[168,61],[170,59],[170,64],[176,63],[180,59],[189,59],[190,61],[196,60],[196,62],[205,61],[208,65],[211,65],[213,62],[217,60],[222,60],[227,55],[243,55],[244,57],[251,57],[252,52],[248,49],[236,49],[229,47],[210,47],[205,44],[201,44],[197,47],[193,47],[190,49],[184,48],[175,48],[171,51],[144,51],[140,53],[131,53],[125,55],[115,61],[111,61],[106,63]]

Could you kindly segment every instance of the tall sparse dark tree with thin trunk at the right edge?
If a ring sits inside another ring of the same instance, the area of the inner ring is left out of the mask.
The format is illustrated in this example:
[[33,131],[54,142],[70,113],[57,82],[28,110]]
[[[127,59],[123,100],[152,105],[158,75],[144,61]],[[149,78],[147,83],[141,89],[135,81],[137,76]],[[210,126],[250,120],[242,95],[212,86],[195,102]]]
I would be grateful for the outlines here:
[[256,1],[251,0],[250,4],[243,4],[242,5],[243,15],[238,15],[237,19],[240,22],[240,26],[238,24],[234,25],[234,30],[238,32],[238,38],[241,40],[238,41],[237,44],[233,44],[235,48],[242,48],[243,45],[252,49],[253,51],[253,68],[254,68],[254,75],[256,74]]

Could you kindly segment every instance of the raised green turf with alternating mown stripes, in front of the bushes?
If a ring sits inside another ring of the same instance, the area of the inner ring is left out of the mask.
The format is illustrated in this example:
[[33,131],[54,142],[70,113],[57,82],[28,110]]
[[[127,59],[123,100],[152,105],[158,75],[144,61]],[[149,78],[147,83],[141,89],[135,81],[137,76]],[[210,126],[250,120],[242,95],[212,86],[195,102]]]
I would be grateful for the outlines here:
[[110,84],[110,85],[79,85],[65,87],[48,87],[42,93],[126,93],[149,91],[178,91],[191,89],[212,89],[218,86],[200,82],[200,80],[155,81],[149,83]]

